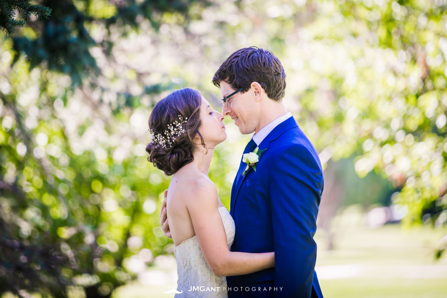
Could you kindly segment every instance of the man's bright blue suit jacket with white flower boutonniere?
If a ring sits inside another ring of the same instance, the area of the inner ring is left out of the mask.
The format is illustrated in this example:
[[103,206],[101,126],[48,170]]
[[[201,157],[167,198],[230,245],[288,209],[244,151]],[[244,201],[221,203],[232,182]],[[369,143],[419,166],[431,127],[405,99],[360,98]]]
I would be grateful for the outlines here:
[[236,235],[231,251],[275,252],[275,268],[229,276],[228,287],[270,281],[278,290],[263,297],[309,298],[313,293],[323,298],[313,240],[324,185],[318,154],[293,117],[276,126],[258,147],[266,151],[256,171],[250,168],[242,176],[246,164],[241,160],[233,183],[230,214]]

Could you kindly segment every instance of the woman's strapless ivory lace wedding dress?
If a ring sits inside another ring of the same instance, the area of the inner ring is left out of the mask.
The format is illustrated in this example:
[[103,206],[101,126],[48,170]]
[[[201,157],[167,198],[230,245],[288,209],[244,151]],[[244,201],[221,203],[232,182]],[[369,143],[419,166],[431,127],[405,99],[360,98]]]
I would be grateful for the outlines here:
[[[234,240],[234,220],[227,209],[219,207],[223,227],[227,234],[228,249]],[[177,291],[175,298],[227,298],[227,279],[215,276],[198,245],[197,236],[186,239],[174,248],[177,262]],[[192,287],[192,288],[191,288]],[[195,287],[195,288],[194,288]]]

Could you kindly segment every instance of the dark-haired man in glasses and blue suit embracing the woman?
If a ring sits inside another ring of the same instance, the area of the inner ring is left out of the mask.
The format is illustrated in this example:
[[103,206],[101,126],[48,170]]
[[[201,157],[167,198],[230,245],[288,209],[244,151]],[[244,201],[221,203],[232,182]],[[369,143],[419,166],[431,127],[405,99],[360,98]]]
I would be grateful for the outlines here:
[[[282,99],[285,73],[269,50],[237,50],[222,63],[213,84],[222,113],[253,138],[244,153],[262,151],[256,171],[240,162],[231,193],[236,235],[231,251],[275,252],[275,268],[228,276],[228,297],[323,298],[316,277],[316,217],[323,170],[312,143]],[[242,157],[242,156],[241,156]],[[169,236],[165,201],[160,222]],[[231,288],[231,289],[230,289]]]

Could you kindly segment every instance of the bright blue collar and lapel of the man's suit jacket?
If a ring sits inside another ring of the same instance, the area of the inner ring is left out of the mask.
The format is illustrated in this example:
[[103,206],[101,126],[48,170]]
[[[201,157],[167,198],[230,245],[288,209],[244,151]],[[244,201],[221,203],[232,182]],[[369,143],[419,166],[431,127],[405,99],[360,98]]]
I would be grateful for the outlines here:
[[[270,131],[270,134],[268,134],[261,142],[261,144],[259,144],[259,150],[264,150],[267,149],[270,145],[270,142],[278,139],[278,137],[283,134],[286,130],[289,130],[295,126],[298,126],[298,124],[296,124],[295,119],[293,117],[290,117],[286,120],[284,120],[283,122],[279,123],[278,126],[276,126],[272,131]],[[247,145],[248,147],[248,145]],[[246,148],[247,149],[247,148]],[[254,148],[253,148],[254,149]],[[253,150],[251,150],[253,151]],[[244,153],[248,153],[250,151],[245,150]],[[262,152],[262,155],[265,153]],[[262,157],[261,155],[261,157]],[[259,160],[261,160],[261,157],[259,158]],[[236,174],[236,178],[233,182],[233,191],[232,191],[232,197],[231,197],[231,215],[234,218],[234,207],[236,205],[236,199],[237,199],[237,195],[239,194],[239,190],[240,190],[240,186],[242,185],[242,182],[244,182],[245,178],[247,177],[247,175],[249,174],[249,172],[252,170],[251,168],[249,168],[247,170],[247,172],[245,173],[244,176],[242,176],[242,173],[244,172],[245,166],[247,164],[242,162],[242,158],[240,159],[240,165],[239,165],[239,170],[237,171]]]

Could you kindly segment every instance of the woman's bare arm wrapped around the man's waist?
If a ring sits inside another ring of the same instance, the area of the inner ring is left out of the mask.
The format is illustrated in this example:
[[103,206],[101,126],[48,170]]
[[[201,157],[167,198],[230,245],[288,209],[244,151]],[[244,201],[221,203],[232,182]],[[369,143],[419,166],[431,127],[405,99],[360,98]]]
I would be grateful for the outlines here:
[[274,267],[274,252],[231,252],[218,210],[215,185],[201,180],[192,188],[186,194],[186,206],[203,256],[215,275],[242,275]]

